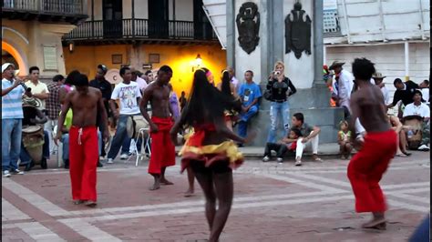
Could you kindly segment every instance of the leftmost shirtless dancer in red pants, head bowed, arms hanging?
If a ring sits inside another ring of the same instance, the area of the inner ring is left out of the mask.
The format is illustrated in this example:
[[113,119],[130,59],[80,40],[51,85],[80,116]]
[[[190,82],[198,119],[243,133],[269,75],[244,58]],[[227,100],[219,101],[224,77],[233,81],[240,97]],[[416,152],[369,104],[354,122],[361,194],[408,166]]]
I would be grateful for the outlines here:
[[95,207],[96,166],[98,164],[98,126],[96,118],[100,112],[104,128],[103,137],[108,140],[107,112],[102,93],[94,87],[88,87],[88,78],[79,75],[73,85],[77,88],[67,94],[58,118],[57,136],[61,138],[62,126],[69,108],[74,113],[72,126],[69,129],[69,172],[72,183],[72,199],[75,204],[86,203]]

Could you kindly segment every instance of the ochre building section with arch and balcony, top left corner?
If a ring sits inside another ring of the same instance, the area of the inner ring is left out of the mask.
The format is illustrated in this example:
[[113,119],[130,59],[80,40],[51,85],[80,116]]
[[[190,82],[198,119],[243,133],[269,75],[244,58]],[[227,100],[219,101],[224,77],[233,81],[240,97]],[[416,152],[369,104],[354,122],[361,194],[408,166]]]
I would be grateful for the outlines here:
[[65,74],[61,38],[87,18],[87,0],[2,2],[2,63],[13,62],[19,76],[39,66],[41,78]]

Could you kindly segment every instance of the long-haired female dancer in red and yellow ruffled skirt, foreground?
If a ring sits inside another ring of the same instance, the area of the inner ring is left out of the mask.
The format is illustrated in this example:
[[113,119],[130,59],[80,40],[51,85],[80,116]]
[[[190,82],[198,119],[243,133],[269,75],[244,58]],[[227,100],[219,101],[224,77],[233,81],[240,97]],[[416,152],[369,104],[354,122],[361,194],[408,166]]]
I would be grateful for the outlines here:
[[[204,71],[197,70],[189,103],[170,131],[171,140],[176,144],[181,127],[194,128],[193,135],[180,150],[181,170],[190,166],[204,192],[210,241],[218,241],[230,214],[233,197],[231,168],[241,166],[243,162],[243,156],[232,140],[248,141],[232,133],[225,125],[223,112],[232,108],[240,106],[236,106],[232,96],[224,95],[211,86]],[[219,199],[217,210],[216,199]]]

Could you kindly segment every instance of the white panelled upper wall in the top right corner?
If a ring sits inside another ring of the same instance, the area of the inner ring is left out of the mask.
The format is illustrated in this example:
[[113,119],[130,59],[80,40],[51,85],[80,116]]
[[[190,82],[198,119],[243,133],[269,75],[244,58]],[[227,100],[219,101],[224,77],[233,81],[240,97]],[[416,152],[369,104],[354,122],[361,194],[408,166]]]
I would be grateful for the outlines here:
[[337,13],[342,36],[324,43],[430,38],[428,0],[337,0]]

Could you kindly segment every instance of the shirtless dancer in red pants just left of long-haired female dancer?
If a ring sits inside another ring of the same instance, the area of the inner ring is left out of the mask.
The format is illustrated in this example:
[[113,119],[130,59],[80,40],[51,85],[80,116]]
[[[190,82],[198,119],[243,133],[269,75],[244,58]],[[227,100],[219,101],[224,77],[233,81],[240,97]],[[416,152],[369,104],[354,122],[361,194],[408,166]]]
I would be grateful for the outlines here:
[[[175,146],[170,140],[170,129],[173,126],[173,116],[170,107],[170,88],[168,83],[172,76],[170,66],[161,66],[158,79],[147,86],[144,97],[141,99],[139,109],[142,116],[149,122],[151,136],[151,157],[149,161],[149,174],[154,177],[154,184],[149,189],[159,189],[160,184],[172,185],[165,178],[167,166],[176,164]],[[151,118],[147,112],[150,102]]]

